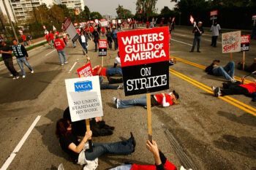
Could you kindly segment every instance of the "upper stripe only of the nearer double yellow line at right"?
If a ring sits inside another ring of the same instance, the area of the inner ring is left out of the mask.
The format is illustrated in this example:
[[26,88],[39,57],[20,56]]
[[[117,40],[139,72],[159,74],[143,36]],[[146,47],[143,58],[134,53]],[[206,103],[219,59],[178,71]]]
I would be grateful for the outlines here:
[[[211,89],[209,86],[204,85],[204,84],[201,83],[201,82],[197,82],[196,80],[193,80],[192,78],[187,77],[186,75],[181,74],[180,72],[176,72],[176,71],[173,70],[173,69],[170,69],[170,71],[175,72],[176,74],[181,75],[182,77],[186,78],[187,80],[190,80],[190,81],[192,81],[192,82],[195,82],[196,84],[199,84],[199,85],[201,85],[203,88],[206,88],[206,89],[208,89],[208,90],[210,90],[210,91],[212,92],[212,89]],[[212,93],[213,93],[213,92],[212,92]],[[248,108],[248,109],[251,109],[253,112],[256,112],[256,109],[255,109],[254,107],[250,107],[249,105],[244,104],[243,102],[238,101],[238,100],[236,100],[235,98],[232,98],[232,97],[230,97],[230,96],[224,96],[224,98],[228,98],[229,100],[235,102],[236,104],[240,104],[240,105],[242,105],[243,107],[246,107],[246,108]]]

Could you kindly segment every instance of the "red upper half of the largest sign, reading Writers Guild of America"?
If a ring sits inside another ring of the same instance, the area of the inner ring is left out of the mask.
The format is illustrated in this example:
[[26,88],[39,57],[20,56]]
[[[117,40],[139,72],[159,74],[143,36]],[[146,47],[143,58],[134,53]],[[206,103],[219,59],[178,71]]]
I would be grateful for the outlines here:
[[161,28],[117,33],[121,66],[136,66],[169,60],[170,33]]

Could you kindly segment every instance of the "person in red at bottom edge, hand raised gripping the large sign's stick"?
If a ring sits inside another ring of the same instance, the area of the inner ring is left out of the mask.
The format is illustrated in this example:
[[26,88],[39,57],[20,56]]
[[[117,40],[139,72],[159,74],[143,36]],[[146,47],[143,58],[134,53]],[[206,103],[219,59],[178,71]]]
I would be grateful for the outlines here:
[[176,166],[167,161],[165,155],[158,149],[157,142],[146,142],[147,149],[154,155],[155,165],[138,165],[136,163],[117,166],[110,170],[177,170]]

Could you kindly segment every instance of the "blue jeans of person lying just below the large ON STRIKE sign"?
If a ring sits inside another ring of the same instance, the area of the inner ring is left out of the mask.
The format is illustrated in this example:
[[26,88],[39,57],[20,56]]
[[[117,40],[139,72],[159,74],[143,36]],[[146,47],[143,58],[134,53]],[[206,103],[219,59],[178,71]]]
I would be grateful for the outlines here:
[[118,108],[120,108],[120,109],[127,108],[127,107],[134,107],[134,106],[146,107],[146,105],[147,105],[146,96],[142,96],[141,98],[134,98],[134,99],[118,101]]

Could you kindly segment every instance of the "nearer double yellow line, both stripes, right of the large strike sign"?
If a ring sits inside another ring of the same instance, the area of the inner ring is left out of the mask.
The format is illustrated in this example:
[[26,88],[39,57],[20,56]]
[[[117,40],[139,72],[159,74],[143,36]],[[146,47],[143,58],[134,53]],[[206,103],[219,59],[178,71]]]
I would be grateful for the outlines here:
[[[202,83],[197,82],[196,80],[192,81],[191,79],[187,79],[187,76],[185,76],[184,74],[178,73],[176,71],[173,72],[173,71],[174,71],[173,69],[170,69],[170,73],[174,74],[176,77],[179,77],[182,80],[185,80],[185,81],[189,82],[190,84],[195,85],[197,88],[205,90],[208,93],[214,94],[214,92],[212,90],[210,90],[211,89],[210,87],[208,87],[206,85],[201,86]],[[239,109],[244,110],[245,112],[248,112],[251,115],[256,116],[255,108],[250,107],[249,105],[244,104],[241,101],[237,101],[236,99],[231,98],[230,96],[224,96],[224,97],[219,96],[219,98],[222,99],[223,101],[227,101],[227,103],[232,104],[235,107],[238,107]]]

